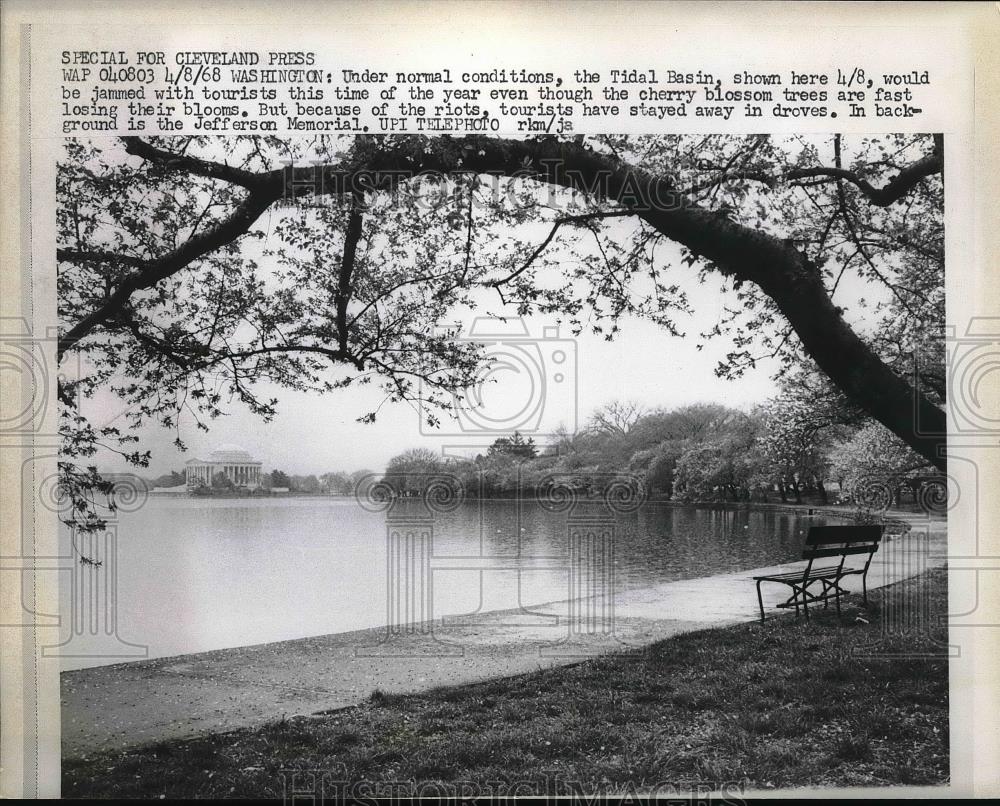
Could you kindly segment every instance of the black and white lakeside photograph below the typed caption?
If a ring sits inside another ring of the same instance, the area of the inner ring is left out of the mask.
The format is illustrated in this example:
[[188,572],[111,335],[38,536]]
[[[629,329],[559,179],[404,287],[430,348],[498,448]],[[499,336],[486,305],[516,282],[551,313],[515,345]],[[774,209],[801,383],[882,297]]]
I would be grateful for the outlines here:
[[61,140],[63,796],[952,783],[995,333],[829,123]]

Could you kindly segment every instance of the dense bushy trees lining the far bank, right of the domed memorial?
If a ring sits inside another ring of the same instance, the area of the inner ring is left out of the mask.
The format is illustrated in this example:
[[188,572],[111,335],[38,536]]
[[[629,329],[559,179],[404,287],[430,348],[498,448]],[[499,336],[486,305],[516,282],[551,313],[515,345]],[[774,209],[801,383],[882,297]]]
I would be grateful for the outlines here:
[[915,502],[922,485],[940,477],[803,364],[785,375],[773,399],[748,412],[719,403],[646,410],[616,401],[578,433],[558,433],[544,447],[515,433],[474,458],[405,451],[382,482],[412,496],[447,477],[466,495],[508,498],[534,495],[553,476],[598,494],[622,474],[640,480],[647,494],[678,502],[828,504],[876,482],[896,505],[906,496]]

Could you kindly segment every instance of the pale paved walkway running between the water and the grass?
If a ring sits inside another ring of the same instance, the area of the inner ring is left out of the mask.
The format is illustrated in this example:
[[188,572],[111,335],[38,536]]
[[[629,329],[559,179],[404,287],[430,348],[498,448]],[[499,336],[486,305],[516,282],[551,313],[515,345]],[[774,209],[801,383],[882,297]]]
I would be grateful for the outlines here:
[[[883,544],[869,571],[869,589],[914,576],[946,560],[944,523]],[[921,536],[923,532],[923,536]],[[753,576],[797,564],[669,582],[614,600],[596,632],[571,633],[569,602],[532,612],[480,614],[425,625],[385,642],[384,629],[222,649],[64,672],[63,755],[232,730],[280,718],[355,705],[376,688],[412,692],[529,672],[608,651],[639,649],[684,632],[758,618]],[[860,589],[860,578],[845,587]],[[765,607],[787,596],[765,586]],[[578,609],[578,608],[574,608]],[[771,610],[771,613],[774,611]],[[604,630],[607,632],[607,630]]]

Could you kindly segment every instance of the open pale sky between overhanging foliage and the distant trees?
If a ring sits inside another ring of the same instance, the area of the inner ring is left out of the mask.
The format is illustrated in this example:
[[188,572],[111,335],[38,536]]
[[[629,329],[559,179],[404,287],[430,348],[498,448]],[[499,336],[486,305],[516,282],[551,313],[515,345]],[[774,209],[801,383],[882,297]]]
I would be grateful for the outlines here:
[[[611,342],[588,332],[573,338],[566,327],[558,338],[535,342],[531,337],[544,336],[546,326],[555,325],[554,318],[535,317],[524,323],[529,331],[527,342],[523,336],[490,339],[500,363],[482,387],[483,416],[465,421],[465,428],[482,427],[488,420],[500,426],[523,423],[524,433],[535,433],[536,441],[544,442],[545,435],[560,424],[572,430],[595,408],[613,400],[634,399],[649,408],[701,401],[748,408],[770,397],[771,375],[776,368],[773,361],[759,363],[737,381],[715,376],[716,364],[732,349],[732,343],[717,337],[699,351],[697,344],[702,340],[696,336],[721,320],[726,297],[720,294],[715,278],[710,277],[704,285],[691,278],[684,285],[696,311],[679,320],[681,330],[689,334],[684,338],[671,336],[649,322],[629,319],[622,322],[620,334]],[[732,304],[732,299],[729,301]],[[491,332],[518,329],[515,320],[506,325],[495,323]],[[565,359],[557,364],[560,352]],[[572,366],[574,353],[575,373],[572,369],[562,371]],[[188,459],[205,457],[222,443],[246,448],[268,471],[277,468],[293,474],[319,474],[362,468],[380,471],[392,456],[418,446],[475,453],[496,436],[464,433],[462,424],[454,420],[444,422],[437,432],[421,428],[418,412],[405,403],[382,406],[373,424],[355,422],[382,401],[382,393],[373,386],[325,395],[275,388],[274,395],[280,403],[278,415],[270,423],[247,413],[238,402],[229,407],[227,416],[210,421],[207,434],[194,428],[190,420],[184,421],[181,436],[188,443],[186,453],[173,446],[173,431],[143,428],[137,432],[141,445],[153,453],[147,474],[181,469]],[[106,395],[96,397],[88,411],[103,424],[118,419],[121,408]],[[109,471],[129,469],[111,456],[99,457],[99,463]]]

